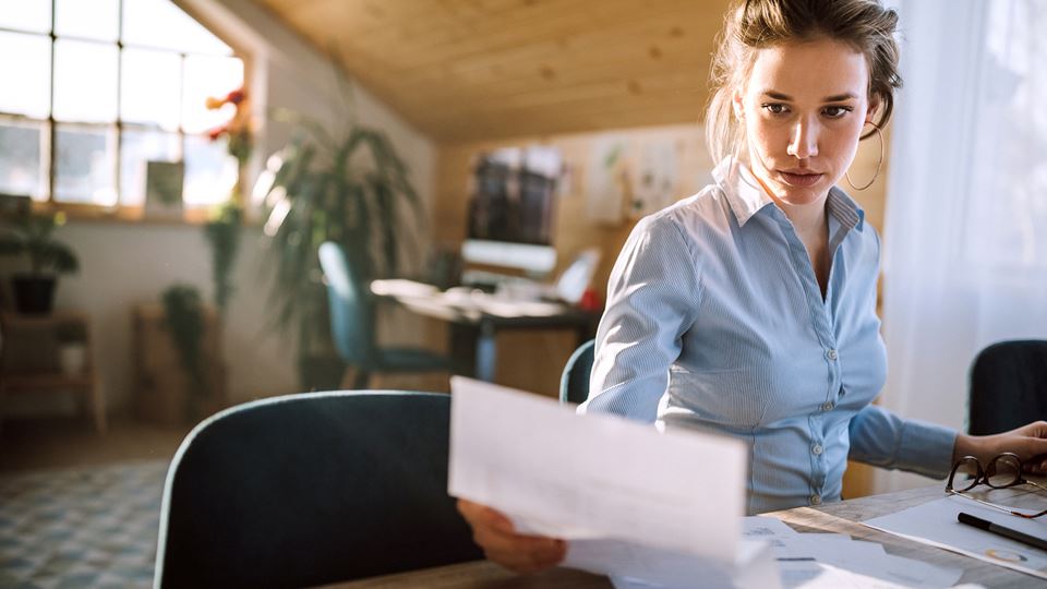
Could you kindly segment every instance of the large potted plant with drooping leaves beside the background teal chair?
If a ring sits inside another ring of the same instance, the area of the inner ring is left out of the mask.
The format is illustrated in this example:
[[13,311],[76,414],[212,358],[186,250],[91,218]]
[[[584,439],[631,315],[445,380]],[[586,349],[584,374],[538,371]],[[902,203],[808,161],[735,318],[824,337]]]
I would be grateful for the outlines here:
[[320,245],[341,243],[364,280],[396,275],[418,251],[421,201],[383,133],[351,124],[335,137],[315,121],[279,116],[297,134],[255,187],[268,212],[272,316],[276,327],[296,332],[301,386],[337,388],[345,366],[330,337]]

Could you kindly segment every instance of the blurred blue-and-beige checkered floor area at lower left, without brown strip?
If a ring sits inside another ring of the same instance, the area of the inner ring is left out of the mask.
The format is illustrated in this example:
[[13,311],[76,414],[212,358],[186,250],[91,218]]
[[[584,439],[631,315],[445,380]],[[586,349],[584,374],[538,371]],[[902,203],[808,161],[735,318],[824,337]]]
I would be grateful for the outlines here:
[[167,465],[0,476],[0,587],[149,587]]

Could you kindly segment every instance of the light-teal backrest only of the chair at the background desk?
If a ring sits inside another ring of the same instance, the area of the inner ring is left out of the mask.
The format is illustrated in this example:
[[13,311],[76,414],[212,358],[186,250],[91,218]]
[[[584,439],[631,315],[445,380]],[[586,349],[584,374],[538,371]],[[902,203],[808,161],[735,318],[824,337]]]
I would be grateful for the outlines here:
[[330,334],[346,362],[370,366],[374,361],[374,302],[360,271],[345,248],[333,241],[320,245],[320,266],[327,278]]

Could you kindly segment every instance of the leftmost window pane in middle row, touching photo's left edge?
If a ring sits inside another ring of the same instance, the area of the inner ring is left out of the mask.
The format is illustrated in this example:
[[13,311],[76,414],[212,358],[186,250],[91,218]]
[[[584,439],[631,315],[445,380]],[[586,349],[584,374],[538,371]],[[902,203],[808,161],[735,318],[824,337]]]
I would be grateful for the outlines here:
[[51,101],[50,39],[0,32],[0,56],[4,56],[0,58],[0,111],[46,119]]

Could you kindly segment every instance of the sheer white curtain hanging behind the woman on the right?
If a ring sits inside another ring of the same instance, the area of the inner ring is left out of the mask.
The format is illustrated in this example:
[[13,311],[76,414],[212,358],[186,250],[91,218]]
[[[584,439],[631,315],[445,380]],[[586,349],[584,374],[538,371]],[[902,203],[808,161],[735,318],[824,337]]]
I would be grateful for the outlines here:
[[[903,0],[883,404],[965,428],[985,346],[1047,339],[1047,0]],[[877,490],[926,484],[895,473]]]

